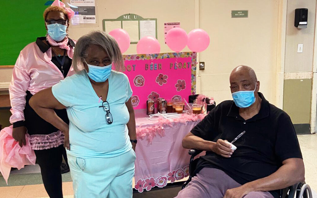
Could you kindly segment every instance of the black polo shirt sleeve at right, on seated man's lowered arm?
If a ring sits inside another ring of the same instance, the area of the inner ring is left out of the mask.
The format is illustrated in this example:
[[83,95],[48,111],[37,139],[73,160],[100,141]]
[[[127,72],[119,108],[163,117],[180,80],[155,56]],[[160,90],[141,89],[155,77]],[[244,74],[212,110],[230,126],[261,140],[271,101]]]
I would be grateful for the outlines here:
[[289,158],[303,158],[293,123],[285,112],[278,119],[275,154],[280,162]]

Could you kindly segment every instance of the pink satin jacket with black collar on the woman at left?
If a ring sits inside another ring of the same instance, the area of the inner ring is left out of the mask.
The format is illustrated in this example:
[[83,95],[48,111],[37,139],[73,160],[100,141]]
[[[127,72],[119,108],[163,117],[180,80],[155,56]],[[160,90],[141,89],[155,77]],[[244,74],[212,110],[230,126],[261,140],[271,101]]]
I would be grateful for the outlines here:
[[[67,51],[68,57],[73,58],[74,47]],[[25,108],[26,91],[32,95],[46,88],[52,87],[64,79],[61,71],[51,61],[52,52],[49,48],[42,52],[36,42],[25,46],[20,52],[13,68],[10,83],[11,117],[10,122],[24,121],[23,110]],[[68,76],[75,73],[71,66]]]

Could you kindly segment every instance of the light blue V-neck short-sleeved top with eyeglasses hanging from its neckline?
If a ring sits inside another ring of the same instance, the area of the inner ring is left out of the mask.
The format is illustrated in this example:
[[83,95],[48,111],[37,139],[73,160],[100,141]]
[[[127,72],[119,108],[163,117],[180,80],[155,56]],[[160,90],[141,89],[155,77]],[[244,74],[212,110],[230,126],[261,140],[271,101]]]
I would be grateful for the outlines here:
[[132,148],[126,124],[130,115],[126,102],[132,96],[128,77],[111,71],[107,101],[113,123],[106,121],[102,101],[94,91],[86,71],[61,80],[52,87],[55,98],[67,108],[69,118],[68,154],[79,158],[111,158]]

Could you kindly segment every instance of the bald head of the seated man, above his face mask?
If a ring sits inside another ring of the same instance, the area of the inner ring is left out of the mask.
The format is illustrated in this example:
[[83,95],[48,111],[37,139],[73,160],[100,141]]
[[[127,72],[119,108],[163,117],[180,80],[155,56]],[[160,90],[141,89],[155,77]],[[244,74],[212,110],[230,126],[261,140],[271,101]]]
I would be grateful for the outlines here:
[[260,82],[257,81],[256,73],[251,67],[240,65],[234,68],[230,74],[230,88],[231,93],[251,90],[257,92],[260,88]]

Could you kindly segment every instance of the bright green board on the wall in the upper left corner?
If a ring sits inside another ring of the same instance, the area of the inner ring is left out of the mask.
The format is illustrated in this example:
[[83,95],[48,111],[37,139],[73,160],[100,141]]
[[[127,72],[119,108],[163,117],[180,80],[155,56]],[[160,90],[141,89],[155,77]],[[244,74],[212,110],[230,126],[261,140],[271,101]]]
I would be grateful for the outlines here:
[[43,12],[48,0],[1,0],[0,65],[14,65],[20,51],[45,36]]

